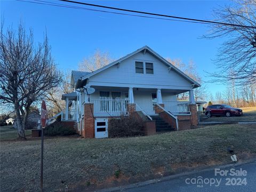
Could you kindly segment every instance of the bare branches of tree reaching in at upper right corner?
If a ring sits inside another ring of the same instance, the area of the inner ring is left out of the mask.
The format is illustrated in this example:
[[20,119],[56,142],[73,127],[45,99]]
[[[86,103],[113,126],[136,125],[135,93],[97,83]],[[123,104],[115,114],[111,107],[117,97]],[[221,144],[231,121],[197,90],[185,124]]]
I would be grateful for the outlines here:
[[[212,25],[206,38],[227,37],[215,60],[220,69],[209,73],[213,82],[236,82],[236,85],[256,83],[256,1],[234,1],[214,10],[218,21],[231,25]],[[243,27],[245,26],[245,27]],[[247,27],[246,27],[247,26]]]

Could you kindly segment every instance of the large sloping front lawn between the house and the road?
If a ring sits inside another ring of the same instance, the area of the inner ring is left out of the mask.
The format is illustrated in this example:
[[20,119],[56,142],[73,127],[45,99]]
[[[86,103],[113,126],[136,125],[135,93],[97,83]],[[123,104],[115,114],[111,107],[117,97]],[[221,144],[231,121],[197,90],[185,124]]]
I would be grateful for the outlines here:
[[[200,129],[118,139],[46,139],[45,191],[93,190],[161,178],[189,167],[255,157],[256,125]],[[1,142],[1,191],[39,191],[40,140]]]

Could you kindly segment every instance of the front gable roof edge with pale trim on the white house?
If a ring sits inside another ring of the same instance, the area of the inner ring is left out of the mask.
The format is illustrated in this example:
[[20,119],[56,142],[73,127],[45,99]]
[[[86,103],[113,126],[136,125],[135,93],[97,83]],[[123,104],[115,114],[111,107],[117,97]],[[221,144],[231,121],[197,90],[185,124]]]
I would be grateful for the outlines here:
[[169,61],[167,61],[166,59],[164,59],[161,55],[159,55],[159,54],[156,53],[154,50],[152,50],[149,46],[145,45],[145,46],[141,47],[140,49],[138,49],[138,50],[136,50],[136,51],[134,51],[134,52],[132,52],[132,53],[130,53],[130,54],[127,54],[127,55],[125,55],[124,57],[122,57],[122,58],[120,58],[120,59],[118,59],[118,60],[116,60],[116,61],[114,61],[114,62],[111,62],[111,63],[109,63],[108,65],[106,65],[106,66],[104,66],[104,67],[102,67],[102,68],[100,68],[100,69],[98,69],[98,70],[93,71],[93,72],[90,73],[90,74],[87,74],[87,75],[85,75],[85,76],[79,78],[78,81],[77,81],[77,83],[76,83],[76,88],[79,88],[79,87],[83,86],[83,85],[84,85],[84,81],[86,81],[87,78],[89,78],[89,77],[91,77],[91,76],[93,76],[93,75],[96,75],[96,74],[100,73],[101,71],[103,71],[103,70],[105,70],[105,69],[107,69],[107,68],[109,68],[109,67],[112,67],[112,66],[114,66],[114,65],[117,65],[118,63],[122,62],[123,60],[125,60],[125,59],[127,59],[127,58],[129,58],[129,57],[132,57],[132,55],[137,54],[137,53],[139,53],[139,52],[141,52],[141,51],[143,51],[143,50],[148,51],[149,53],[151,53],[152,55],[154,55],[156,58],[158,58],[159,60],[161,60],[163,63],[165,63],[165,65],[166,65],[167,67],[169,67],[169,68],[172,69],[172,70],[177,71],[177,73],[179,73],[181,76],[183,76],[183,77],[186,78],[188,81],[190,81],[191,83],[193,83],[193,84],[194,84],[193,88],[201,86],[201,85],[200,85],[199,83],[197,83],[194,79],[190,78],[188,75],[186,75],[185,73],[183,73],[180,69],[178,69],[177,67],[175,67],[174,65],[172,65],[172,63],[170,63]]

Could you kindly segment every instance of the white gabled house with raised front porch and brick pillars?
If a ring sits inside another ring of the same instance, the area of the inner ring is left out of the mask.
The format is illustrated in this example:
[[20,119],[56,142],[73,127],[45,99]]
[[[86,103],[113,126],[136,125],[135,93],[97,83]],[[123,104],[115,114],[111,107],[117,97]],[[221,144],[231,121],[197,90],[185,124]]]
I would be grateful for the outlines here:
[[[72,71],[74,92],[62,95],[66,100],[62,121],[74,121],[86,138],[108,137],[108,119],[131,114],[147,119],[146,134],[165,130],[160,121],[175,130],[190,129],[198,123],[193,89],[199,86],[143,46],[92,73]],[[95,92],[88,95],[91,88]],[[189,101],[177,101],[177,94],[184,92],[189,92]]]

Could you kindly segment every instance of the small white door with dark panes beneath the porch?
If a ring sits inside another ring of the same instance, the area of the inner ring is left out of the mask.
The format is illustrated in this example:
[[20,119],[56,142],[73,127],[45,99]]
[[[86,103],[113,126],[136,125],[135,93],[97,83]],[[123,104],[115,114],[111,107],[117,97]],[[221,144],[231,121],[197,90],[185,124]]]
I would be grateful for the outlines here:
[[95,119],[95,138],[108,137],[108,119],[97,118]]

